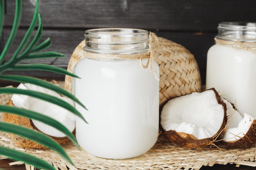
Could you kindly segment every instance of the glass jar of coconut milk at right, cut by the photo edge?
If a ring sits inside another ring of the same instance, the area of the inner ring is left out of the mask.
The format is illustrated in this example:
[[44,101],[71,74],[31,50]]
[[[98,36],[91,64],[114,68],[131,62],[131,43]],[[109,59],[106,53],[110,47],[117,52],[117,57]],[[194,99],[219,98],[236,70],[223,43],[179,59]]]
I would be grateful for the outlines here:
[[206,88],[256,117],[256,23],[222,22],[207,54]]

